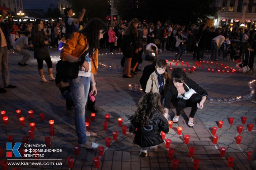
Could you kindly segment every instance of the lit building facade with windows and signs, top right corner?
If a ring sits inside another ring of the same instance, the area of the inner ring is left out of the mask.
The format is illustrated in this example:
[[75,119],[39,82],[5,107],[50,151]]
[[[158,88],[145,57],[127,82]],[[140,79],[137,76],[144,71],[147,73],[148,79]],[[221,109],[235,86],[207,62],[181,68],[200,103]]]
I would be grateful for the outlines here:
[[256,0],[216,0],[215,7],[218,11],[210,17],[208,26],[256,28]]

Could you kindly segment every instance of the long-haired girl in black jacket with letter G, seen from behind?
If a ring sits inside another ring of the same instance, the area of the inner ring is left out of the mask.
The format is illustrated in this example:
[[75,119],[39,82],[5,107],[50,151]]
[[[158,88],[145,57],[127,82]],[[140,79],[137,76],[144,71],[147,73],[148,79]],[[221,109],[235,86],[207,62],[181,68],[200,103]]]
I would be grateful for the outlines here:
[[145,94],[140,99],[135,114],[129,119],[131,119],[129,132],[135,134],[133,143],[142,147],[141,157],[147,157],[148,149],[157,149],[157,146],[163,143],[161,131],[169,132],[167,113],[164,114],[161,96],[158,93]]

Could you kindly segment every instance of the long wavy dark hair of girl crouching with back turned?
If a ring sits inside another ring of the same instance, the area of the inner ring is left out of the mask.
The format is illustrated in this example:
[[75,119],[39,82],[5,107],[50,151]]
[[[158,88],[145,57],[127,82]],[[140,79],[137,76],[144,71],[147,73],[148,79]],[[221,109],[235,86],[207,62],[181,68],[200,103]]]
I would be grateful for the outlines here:
[[148,126],[150,120],[154,117],[155,111],[160,114],[164,113],[161,96],[158,93],[149,92],[142,96],[139,101],[138,108],[135,111],[135,122],[142,126]]

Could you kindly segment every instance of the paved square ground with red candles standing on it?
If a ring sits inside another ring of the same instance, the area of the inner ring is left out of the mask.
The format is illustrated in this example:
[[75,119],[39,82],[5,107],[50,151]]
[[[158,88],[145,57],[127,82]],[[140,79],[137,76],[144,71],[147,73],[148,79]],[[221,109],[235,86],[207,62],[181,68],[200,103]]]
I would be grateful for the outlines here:
[[[59,60],[59,52],[50,50],[52,55],[53,65]],[[102,170],[149,170],[149,169],[172,169],[172,160],[168,158],[168,150],[165,148],[165,143],[162,143],[158,151],[150,151],[149,157],[139,157],[140,147],[134,145],[133,135],[127,133],[122,134],[122,128],[118,126],[117,118],[123,118],[123,125],[128,126],[128,118],[136,110],[136,104],[143,95],[139,89],[139,78],[135,75],[132,79],[122,78],[122,70],[120,68],[120,59],[122,54],[106,54],[105,50],[100,50],[99,55],[99,70],[96,77],[98,95],[96,97],[96,106],[98,113],[95,120],[91,120],[89,130],[98,134],[96,138],[88,138],[90,141],[96,141],[101,146],[105,147],[105,153],[101,157],[100,167]],[[164,58],[172,62],[173,52],[163,53],[159,58]],[[252,151],[256,144],[256,109],[255,104],[251,102],[255,99],[252,91],[255,89],[255,73],[253,75],[244,75],[239,73],[218,74],[217,71],[208,72],[207,68],[215,69],[216,62],[211,65],[211,60],[207,59],[210,54],[206,54],[205,63],[201,63],[201,67],[197,67],[192,74],[188,73],[188,77],[192,78],[208,91],[209,99],[205,103],[203,110],[198,110],[195,116],[195,126],[189,128],[186,124],[188,121],[189,108],[186,108],[180,117],[177,124],[173,124],[173,128],[166,134],[166,139],[171,139],[171,148],[175,150],[174,157],[178,159],[178,169],[193,169],[193,159],[199,159],[199,169],[250,169],[247,161],[248,151]],[[29,144],[45,144],[45,137],[50,137],[48,120],[54,120],[55,135],[51,138],[51,145],[47,148],[39,149],[62,149],[60,152],[41,152],[44,157],[40,159],[23,160],[14,156],[8,162],[17,163],[51,163],[59,165],[9,165],[9,169],[20,167],[20,169],[68,169],[67,158],[75,158],[73,169],[95,169],[93,158],[98,157],[97,150],[81,149],[78,156],[75,155],[74,146],[77,145],[77,138],[74,126],[74,109],[66,110],[65,100],[61,96],[60,91],[55,87],[54,82],[42,83],[37,71],[35,59],[29,60],[29,65],[26,67],[18,66],[18,61],[21,56],[18,54],[10,54],[9,56],[9,73],[11,84],[17,86],[15,89],[7,89],[7,93],[0,95],[0,110],[6,111],[8,116],[8,124],[4,124],[0,120],[0,147],[3,147],[3,158],[1,161],[7,160],[6,157],[6,142],[7,136],[12,135],[14,142],[22,142],[22,137],[29,136],[29,123],[35,123],[34,138],[29,140]],[[175,66],[187,68],[185,62],[189,64],[189,68],[195,66],[195,61],[192,60],[192,54],[184,54],[184,66],[181,66],[181,61]],[[207,64],[206,62],[209,61]],[[143,68],[151,62],[143,61],[140,68]],[[220,64],[235,67],[235,62],[220,61]],[[105,66],[104,66],[105,65]],[[204,66],[204,68],[202,68]],[[46,64],[44,65],[44,73],[48,78]],[[187,71],[187,70],[186,70]],[[250,84],[248,84],[251,82]],[[131,84],[132,89],[129,90],[128,84]],[[211,102],[210,102],[211,101]],[[21,115],[25,117],[25,126],[20,125],[19,118],[15,112],[16,109],[21,110]],[[33,110],[34,117],[29,118],[27,111]],[[175,108],[169,112],[173,117]],[[45,120],[40,120],[40,113],[45,114]],[[108,122],[108,130],[103,130],[103,122],[105,122],[105,114],[110,114]],[[242,124],[241,117],[247,117],[246,123]],[[86,111],[86,117],[90,117],[90,112]],[[229,124],[229,117],[234,117],[234,123]],[[218,142],[212,143],[212,127],[218,127],[218,121],[223,121],[222,129],[217,130]],[[253,130],[248,131],[248,124],[254,124]],[[242,141],[240,145],[236,144],[237,126],[243,126],[241,133]],[[177,134],[177,127],[183,127],[182,134]],[[118,131],[116,141],[113,141],[112,131]],[[184,143],[184,135],[190,135],[189,143]],[[110,137],[112,142],[110,147],[106,147],[105,138]],[[193,158],[188,156],[189,147],[195,147]],[[224,157],[220,157],[220,147],[226,147],[227,151]],[[20,148],[23,148],[23,144]],[[33,153],[27,153],[33,154]],[[1,155],[1,154],[0,154]],[[227,159],[229,156],[236,158],[232,168],[227,167]],[[45,160],[47,159],[47,160]],[[50,160],[55,159],[55,160]],[[56,160],[58,159],[58,160]],[[60,165],[62,164],[62,165]]]

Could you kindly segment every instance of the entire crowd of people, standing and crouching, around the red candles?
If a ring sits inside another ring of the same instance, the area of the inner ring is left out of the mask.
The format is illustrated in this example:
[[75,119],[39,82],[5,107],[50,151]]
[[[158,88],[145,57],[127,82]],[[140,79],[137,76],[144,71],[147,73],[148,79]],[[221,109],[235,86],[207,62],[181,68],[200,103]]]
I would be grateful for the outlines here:
[[[44,22],[37,19],[34,23],[16,25],[11,15],[3,11],[0,18],[0,67],[4,85],[0,83],[0,92],[6,92],[5,88],[16,88],[10,84],[7,48],[23,55],[18,63],[20,66],[27,66],[26,62],[31,57],[27,49],[33,48],[38,72],[44,83],[48,82],[43,74],[44,61],[48,67],[49,80],[55,81],[48,48],[58,48],[61,60],[78,63],[80,66],[77,78],[61,80],[56,77],[56,85],[62,88],[60,91],[66,99],[67,108],[75,107],[78,142],[87,149],[98,147],[97,143],[87,140],[87,137],[97,137],[97,134],[86,131],[84,108],[89,100],[89,92],[93,96],[97,95],[94,75],[98,69],[99,48],[110,46],[110,52],[114,53],[113,48],[116,46],[118,51],[123,52],[123,78],[132,78],[136,71],[140,71],[138,65],[142,63],[143,51],[146,59],[153,61],[143,70],[140,83],[146,94],[140,99],[138,109],[130,118],[129,131],[135,133],[134,143],[142,147],[140,156],[144,157],[147,156],[148,149],[156,148],[163,142],[160,132],[168,133],[171,103],[176,108],[174,123],[178,122],[182,109],[191,107],[187,124],[193,127],[197,109],[203,109],[208,98],[207,92],[189,79],[181,68],[175,68],[172,75],[166,72],[166,60],[158,59],[161,50],[177,51],[174,59],[180,60],[184,52],[193,52],[193,59],[199,61],[203,60],[205,51],[212,53],[212,60],[219,60],[222,52],[223,59],[228,54],[231,60],[240,59],[237,63],[238,71],[248,72],[253,69],[255,31],[249,33],[245,30],[242,33],[242,29],[236,28],[232,31],[228,27],[215,29],[206,27],[204,23],[192,25],[188,29],[178,24],[165,23],[162,26],[160,21],[156,25],[147,25],[140,23],[138,18],[133,18],[129,23],[121,21],[117,24],[115,21],[112,25],[92,19],[85,25],[78,24],[82,21],[85,9],[82,9],[77,19],[71,17],[71,8],[65,8],[64,12],[64,22],[53,22],[51,19]],[[8,20],[1,22],[6,15]]]

